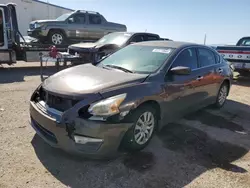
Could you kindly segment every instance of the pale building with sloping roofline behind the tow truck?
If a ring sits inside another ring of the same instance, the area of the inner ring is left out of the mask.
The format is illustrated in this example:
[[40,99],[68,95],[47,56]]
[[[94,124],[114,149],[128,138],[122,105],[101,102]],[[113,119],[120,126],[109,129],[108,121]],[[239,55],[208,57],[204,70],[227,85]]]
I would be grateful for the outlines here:
[[29,23],[34,20],[55,19],[64,13],[74,10],[53,5],[39,0],[1,0],[1,4],[15,3],[19,30],[22,35],[27,35]]

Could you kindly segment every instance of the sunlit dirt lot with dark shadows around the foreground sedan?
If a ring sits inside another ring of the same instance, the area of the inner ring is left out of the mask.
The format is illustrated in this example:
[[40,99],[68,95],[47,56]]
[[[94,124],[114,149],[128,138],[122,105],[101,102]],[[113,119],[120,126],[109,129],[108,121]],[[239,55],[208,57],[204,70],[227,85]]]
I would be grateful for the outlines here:
[[250,79],[235,81],[223,109],[169,124],[145,151],[91,161],[51,148],[29,125],[39,73],[37,67],[0,68],[1,188],[249,187]]

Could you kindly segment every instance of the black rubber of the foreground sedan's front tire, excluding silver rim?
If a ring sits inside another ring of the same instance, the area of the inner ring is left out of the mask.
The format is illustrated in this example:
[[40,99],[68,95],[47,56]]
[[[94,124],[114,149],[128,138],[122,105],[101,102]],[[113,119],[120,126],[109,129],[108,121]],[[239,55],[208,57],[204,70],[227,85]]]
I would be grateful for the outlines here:
[[[134,131],[135,131],[136,122],[138,121],[138,119],[140,118],[140,116],[144,112],[151,112],[154,115],[155,126],[154,126],[154,130],[151,134],[151,137],[147,140],[147,142],[145,144],[140,145],[135,141]],[[157,122],[158,122],[156,110],[149,105],[144,105],[144,106],[139,107],[135,111],[133,111],[129,118],[132,119],[133,125],[130,127],[130,129],[124,135],[123,140],[122,140],[122,147],[126,150],[129,150],[129,151],[142,150],[149,144],[149,142],[151,141],[151,139],[154,135],[154,132],[156,130]]]

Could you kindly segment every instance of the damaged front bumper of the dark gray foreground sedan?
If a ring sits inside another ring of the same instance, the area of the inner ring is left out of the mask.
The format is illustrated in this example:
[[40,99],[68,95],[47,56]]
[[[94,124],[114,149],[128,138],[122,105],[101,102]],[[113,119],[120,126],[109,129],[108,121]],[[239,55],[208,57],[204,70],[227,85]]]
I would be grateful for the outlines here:
[[[93,158],[116,155],[124,134],[132,125],[80,117],[66,123],[61,121],[59,116],[52,117],[42,111],[35,102],[30,102],[31,125],[43,140],[52,147]],[[63,117],[65,118],[67,119]]]

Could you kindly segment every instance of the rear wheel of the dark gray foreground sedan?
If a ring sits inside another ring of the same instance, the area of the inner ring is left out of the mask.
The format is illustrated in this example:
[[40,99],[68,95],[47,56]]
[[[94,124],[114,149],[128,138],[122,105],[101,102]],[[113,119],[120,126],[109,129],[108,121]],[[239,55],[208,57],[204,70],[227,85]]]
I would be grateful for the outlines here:
[[223,82],[217,94],[216,102],[214,103],[215,108],[221,108],[224,106],[227,100],[226,98],[228,92],[229,92],[229,85],[226,82]]

